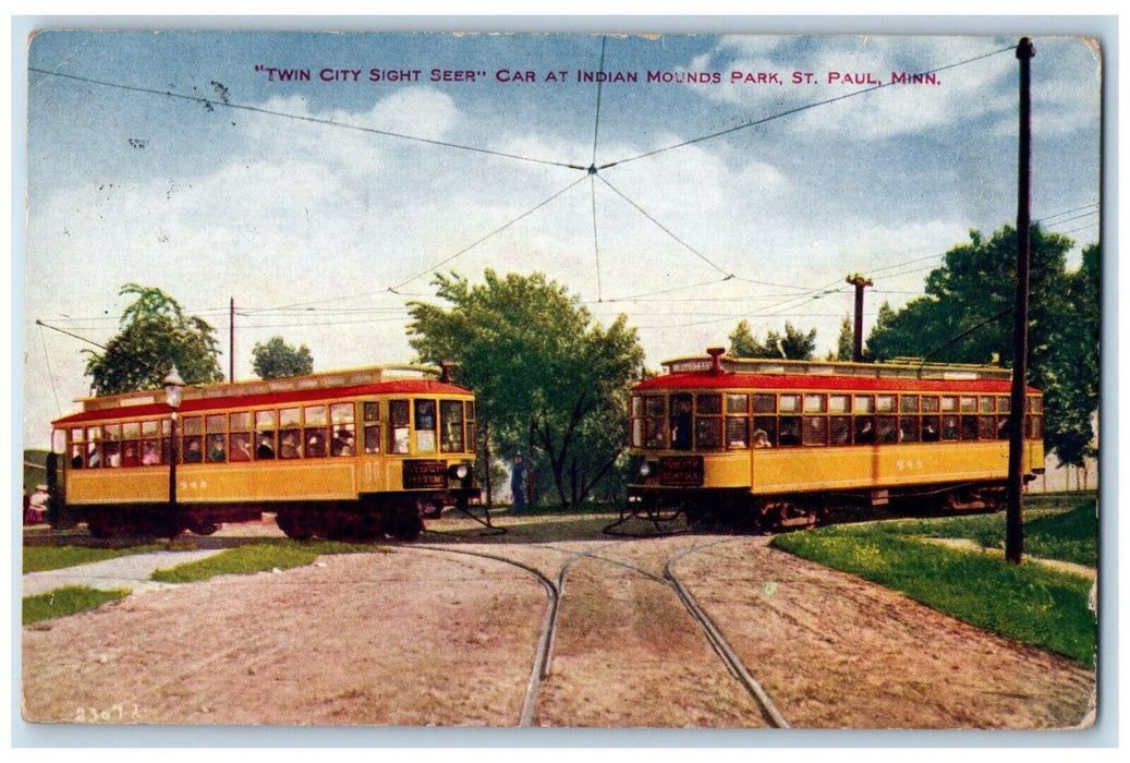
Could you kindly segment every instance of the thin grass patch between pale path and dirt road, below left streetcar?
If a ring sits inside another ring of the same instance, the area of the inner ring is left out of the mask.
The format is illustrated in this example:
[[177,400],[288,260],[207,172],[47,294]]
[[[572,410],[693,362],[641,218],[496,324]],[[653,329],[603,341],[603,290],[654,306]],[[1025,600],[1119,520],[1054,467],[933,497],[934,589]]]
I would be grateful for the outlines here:
[[279,540],[229,548],[197,562],[154,571],[151,578],[164,583],[191,583],[216,575],[253,574],[269,570],[289,570],[312,563],[327,554],[390,553],[383,546],[348,544],[332,540]]

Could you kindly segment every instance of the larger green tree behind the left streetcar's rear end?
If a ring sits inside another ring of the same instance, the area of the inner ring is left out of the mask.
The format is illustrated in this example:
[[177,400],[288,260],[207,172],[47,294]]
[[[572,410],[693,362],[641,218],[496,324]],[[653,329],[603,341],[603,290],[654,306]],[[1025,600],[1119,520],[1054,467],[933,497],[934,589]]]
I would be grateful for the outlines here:
[[137,297],[122,312],[120,331],[104,353],[82,350],[93,394],[159,389],[174,364],[188,384],[224,380],[215,329],[207,321],[185,315],[176,300],[155,286],[127,284],[118,294]]

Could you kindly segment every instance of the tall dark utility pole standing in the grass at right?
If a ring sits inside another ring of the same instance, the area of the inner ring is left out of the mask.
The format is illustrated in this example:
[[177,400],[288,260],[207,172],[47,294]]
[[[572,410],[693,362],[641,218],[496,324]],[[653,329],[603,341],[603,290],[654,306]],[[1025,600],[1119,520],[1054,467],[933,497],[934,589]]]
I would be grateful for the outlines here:
[[1005,558],[1019,564],[1024,554],[1024,424],[1028,376],[1028,268],[1032,258],[1032,94],[1028,37],[1016,46],[1020,61],[1020,129],[1016,205],[1016,307],[1012,323],[1012,397],[1008,431],[1008,510]]

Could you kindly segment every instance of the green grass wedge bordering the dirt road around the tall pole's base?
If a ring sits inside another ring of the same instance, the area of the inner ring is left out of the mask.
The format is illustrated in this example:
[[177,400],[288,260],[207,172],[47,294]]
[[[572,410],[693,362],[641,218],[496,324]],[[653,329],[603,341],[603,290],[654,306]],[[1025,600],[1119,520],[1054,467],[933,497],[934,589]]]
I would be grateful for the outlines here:
[[1034,562],[1014,565],[989,554],[899,537],[884,524],[870,534],[791,532],[772,545],[1022,643],[1094,665],[1089,580]]

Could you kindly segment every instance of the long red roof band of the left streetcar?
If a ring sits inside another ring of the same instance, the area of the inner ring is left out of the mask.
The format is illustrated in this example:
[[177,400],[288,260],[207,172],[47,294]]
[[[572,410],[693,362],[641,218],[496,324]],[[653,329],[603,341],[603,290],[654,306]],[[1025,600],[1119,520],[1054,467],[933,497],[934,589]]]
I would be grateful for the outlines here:
[[[155,392],[163,394],[163,392]],[[327,387],[318,389],[289,390],[285,392],[261,392],[257,394],[226,394],[220,397],[203,397],[185,399],[177,409],[181,415],[220,408],[258,408],[262,406],[285,406],[295,402],[312,402],[316,400],[336,400],[339,398],[365,397],[372,394],[473,394],[471,390],[447,382],[432,379],[394,379],[374,384],[355,384],[351,387]],[[70,416],[56,418],[53,426],[68,426],[95,420],[116,418],[139,418],[167,416],[168,406],[165,402],[141,405],[124,405],[113,408],[84,410]]]

